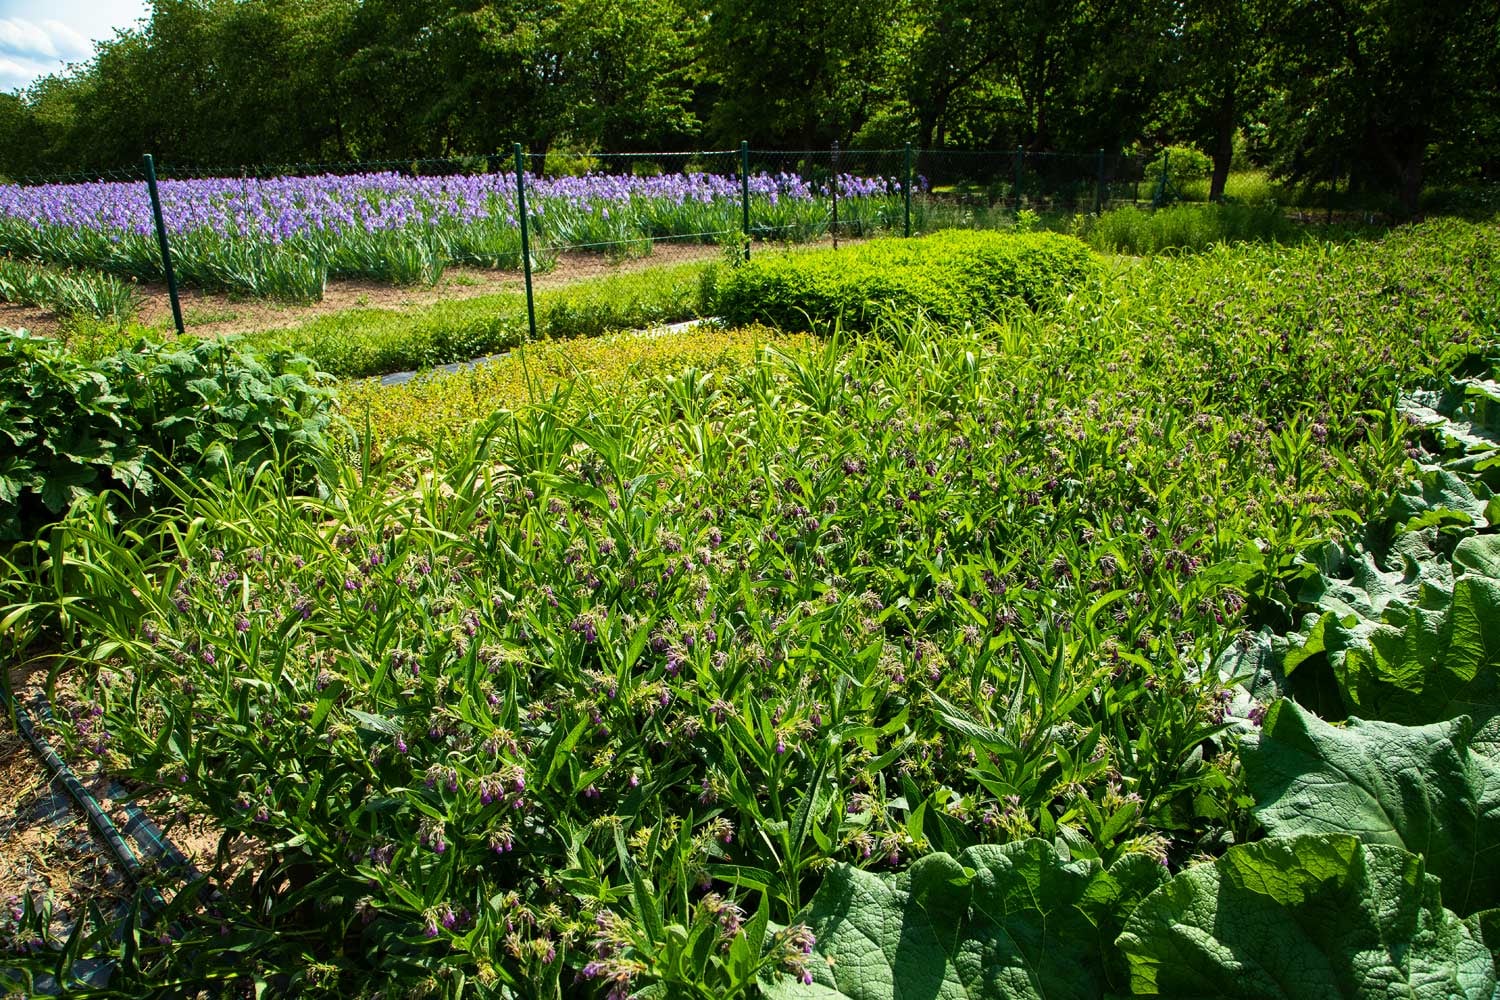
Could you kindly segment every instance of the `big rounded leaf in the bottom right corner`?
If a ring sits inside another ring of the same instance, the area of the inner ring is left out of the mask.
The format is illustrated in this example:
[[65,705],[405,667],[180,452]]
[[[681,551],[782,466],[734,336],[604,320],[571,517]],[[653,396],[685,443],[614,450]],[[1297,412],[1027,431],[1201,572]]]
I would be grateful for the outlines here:
[[1400,847],[1344,834],[1232,847],[1150,894],[1119,948],[1137,996],[1491,997],[1484,943]]

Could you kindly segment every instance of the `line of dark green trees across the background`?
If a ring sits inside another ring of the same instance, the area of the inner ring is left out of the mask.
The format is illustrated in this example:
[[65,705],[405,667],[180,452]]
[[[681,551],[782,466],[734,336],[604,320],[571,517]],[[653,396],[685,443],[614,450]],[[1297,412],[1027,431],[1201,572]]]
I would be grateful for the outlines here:
[[0,174],[1234,138],[1416,205],[1500,168],[1500,7],[1462,0],[152,0],[0,94]]

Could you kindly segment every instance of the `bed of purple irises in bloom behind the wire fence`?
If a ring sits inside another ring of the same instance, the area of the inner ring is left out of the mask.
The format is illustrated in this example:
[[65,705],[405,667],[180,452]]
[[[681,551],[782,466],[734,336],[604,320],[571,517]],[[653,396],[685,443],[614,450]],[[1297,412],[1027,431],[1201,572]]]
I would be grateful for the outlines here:
[[[828,232],[832,181],[750,178],[759,238]],[[844,174],[840,229],[902,222],[902,184]],[[526,177],[532,253],[562,247],[650,252],[651,240],[714,243],[740,232],[740,178],[720,174]],[[316,300],[328,277],[435,282],[447,264],[519,268],[514,174],[162,181],[178,277],[206,289]],[[0,255],[159,280],[160,253],[142,183],[0,186]]]

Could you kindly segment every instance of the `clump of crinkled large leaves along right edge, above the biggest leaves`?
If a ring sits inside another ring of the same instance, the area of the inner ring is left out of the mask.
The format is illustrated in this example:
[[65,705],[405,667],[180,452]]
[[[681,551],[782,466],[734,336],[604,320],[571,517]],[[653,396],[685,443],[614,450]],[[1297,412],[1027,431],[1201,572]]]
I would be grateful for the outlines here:
[[1468,715],[1484,729],[1500,715],[1492,385],[1452,382],[1401,405],[1443,460],[1419,463],[1362,541],[1306,555],[1311,612],[1282,664],[1293,687],[1332,679],[1348,712],[1406,724]]

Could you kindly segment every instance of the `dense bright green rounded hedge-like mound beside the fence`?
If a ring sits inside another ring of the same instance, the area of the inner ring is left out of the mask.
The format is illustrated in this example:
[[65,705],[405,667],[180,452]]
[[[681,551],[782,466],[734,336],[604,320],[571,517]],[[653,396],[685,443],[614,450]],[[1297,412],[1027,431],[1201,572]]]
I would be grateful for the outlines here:
[[1072,237],[950,229],[918,240],[876,240],[842,250],[754,256],[714,276],[714,309],[732,325],[808,330],[840,322],[870,331],[880,318],[921,312],[951,325],[1016,300],[1041,307],[1096,274]]

